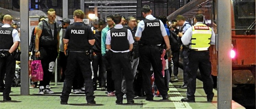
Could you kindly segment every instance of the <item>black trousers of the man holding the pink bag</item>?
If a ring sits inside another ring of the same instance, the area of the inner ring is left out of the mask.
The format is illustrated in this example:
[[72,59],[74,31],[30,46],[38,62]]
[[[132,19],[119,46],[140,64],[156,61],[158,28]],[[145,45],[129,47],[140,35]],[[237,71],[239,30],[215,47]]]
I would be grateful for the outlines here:
[[49,69],[49,63],[55,62],[58,52],[56,49],[48,49],[48,48],[40,48],[40,57],[39,60],[41,60],[42,68],[44,71],[44,77],[43,81],[40,81],[39,86],[46,86],[50,85],[51,77],[53,76],[53,72],[50,72]]

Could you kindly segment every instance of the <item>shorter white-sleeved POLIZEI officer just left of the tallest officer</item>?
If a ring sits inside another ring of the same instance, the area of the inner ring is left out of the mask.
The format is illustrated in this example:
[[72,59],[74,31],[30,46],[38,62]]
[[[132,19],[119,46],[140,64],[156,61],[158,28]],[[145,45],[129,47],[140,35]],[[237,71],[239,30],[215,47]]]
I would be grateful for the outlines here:
[[[119,14],[113,16],[114,28],[107,32],[106,48],[111,50],[111,65],[113,66],[113,80],[116,89],[116,104],[123,104],[124,93],[121,92],[123,76],[126,79],[127,104],[133,104],[133,74],[131,73],[130,51],[134,43],[132,33],[129,29],[122,26],[123,20]],[[110,51],[110,52],[111,52]]]

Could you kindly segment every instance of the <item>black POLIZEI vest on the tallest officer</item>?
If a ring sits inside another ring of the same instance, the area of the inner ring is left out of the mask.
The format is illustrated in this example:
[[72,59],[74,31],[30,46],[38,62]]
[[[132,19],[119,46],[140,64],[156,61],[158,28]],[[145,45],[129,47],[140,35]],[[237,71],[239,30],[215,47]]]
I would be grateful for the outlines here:
[[145,28],[142,32],[140,42],[145,45],[159,45],[163,43],[163,36],[160,27],[160,21],[155,20],[143,20]]

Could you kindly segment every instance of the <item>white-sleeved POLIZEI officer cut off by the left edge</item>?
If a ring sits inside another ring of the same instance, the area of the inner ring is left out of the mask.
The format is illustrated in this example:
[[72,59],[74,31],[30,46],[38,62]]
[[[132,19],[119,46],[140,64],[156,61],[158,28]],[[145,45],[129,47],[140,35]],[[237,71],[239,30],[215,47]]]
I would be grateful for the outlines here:
[[10,101],[12,99],[9,94],[11,93],[11,84],[15,74],[13,51],[18,47],[20,38],[18,31],[10,26],[12,23],[11,15],[4,15],[3,23],[4,25],[0,27],[0,81],[3,81],[5,74],[5,85],[2,86],[1,84],[2,88],[5,87],[3,90],[3,101]]

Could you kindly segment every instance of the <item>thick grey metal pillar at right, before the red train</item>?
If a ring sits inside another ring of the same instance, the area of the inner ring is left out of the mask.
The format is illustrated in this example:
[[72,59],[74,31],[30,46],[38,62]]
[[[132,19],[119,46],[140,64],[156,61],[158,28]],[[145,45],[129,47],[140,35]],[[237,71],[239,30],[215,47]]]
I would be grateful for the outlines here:
[[218,109],[232,107],[231,0],[217,0]]

